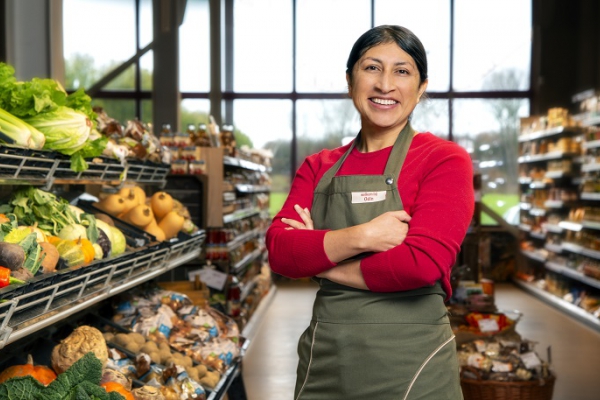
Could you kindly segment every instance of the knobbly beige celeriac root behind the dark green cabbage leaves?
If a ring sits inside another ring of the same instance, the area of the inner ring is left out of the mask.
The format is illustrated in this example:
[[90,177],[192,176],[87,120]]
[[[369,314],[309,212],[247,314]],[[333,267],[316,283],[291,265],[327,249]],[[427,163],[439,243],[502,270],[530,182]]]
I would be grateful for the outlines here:
[[65,372],[85,354],[93,352],[102,363],[108,361],[108,349],[102,333],[91,326],[83,325],[76,328],[52,350],[52,369],[57,374]]

